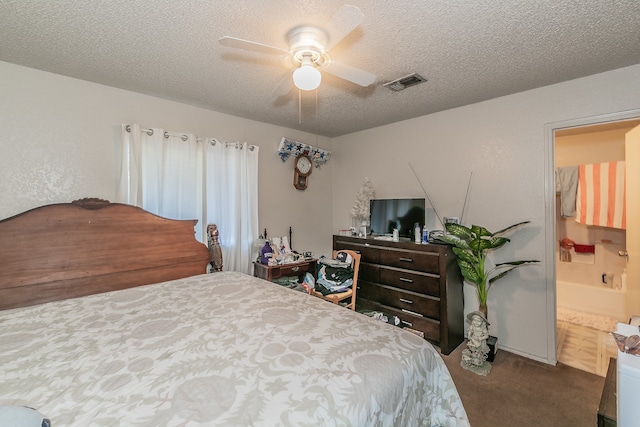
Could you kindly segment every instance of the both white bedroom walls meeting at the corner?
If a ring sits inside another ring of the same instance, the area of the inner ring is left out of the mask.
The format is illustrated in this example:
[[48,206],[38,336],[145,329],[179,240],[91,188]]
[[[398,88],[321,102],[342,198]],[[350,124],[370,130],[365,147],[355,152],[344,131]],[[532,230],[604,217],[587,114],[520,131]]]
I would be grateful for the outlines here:
[[[333,233],[351,226],[349,211],[365,176],[377,197],[423,196],[411,161],[440,216],[461,213],[473,172],[464,222],[498,230],[531,220],[513,233],[510,251],[514,258],[548,259],[546,248],[554,245],[545,242],[553,227],[545,222],[545,180],[552,179],[553,159],[545,126],[640,108],[636,65],[333,141],[319,138],[331,161],[314,169],[309,188],[299,192],[292,161],[283,164],[277,146],[282,136],[314,144],[313,135],[3,62],[0,82],[0,218],[81,197],[113,200],[120,124],[137,122],[260,146],[261,229],[285,235],[291,225],[294,248],[318,255],[330,252]],[[545,263],[529,266],[498,282],[489,320],[501,347],[555,361],[549,271]],[[466,299],[470,311],[475,300]]]

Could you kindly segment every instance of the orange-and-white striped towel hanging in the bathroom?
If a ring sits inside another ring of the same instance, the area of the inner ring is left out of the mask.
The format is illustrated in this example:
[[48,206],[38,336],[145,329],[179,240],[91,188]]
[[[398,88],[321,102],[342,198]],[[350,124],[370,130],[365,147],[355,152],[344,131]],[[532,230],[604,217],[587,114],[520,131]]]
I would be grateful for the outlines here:
[[580,165],[576,222],[626,229],[625,163]]

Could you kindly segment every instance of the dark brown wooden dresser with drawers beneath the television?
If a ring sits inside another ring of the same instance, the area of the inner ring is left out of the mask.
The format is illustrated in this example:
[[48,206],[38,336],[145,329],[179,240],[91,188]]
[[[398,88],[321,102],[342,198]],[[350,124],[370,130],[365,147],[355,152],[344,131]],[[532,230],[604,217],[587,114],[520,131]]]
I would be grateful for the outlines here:
[[397,316],[443,354],[464,339],[463,286],[449,246],[333,236],[333,249],[359,252],[358,309]]

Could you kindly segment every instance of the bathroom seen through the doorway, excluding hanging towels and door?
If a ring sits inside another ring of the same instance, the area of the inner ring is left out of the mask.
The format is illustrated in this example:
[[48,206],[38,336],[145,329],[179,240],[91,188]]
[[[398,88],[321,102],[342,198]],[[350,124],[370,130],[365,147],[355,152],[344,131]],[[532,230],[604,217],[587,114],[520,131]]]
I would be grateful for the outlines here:
[[[636,117],[555,128],[554,170],[566,177],[577,165],[624,161],[625,134],[638,125]],[[554,206],[557,360],[605,376],[616,355],[609,332],[627,315],[626,231],[576,222],[559,191]]]

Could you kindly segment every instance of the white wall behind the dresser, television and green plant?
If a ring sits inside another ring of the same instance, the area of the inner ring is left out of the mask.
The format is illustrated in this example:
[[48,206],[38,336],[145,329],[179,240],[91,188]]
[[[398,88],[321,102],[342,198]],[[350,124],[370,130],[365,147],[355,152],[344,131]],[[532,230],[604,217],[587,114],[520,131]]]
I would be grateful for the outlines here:
[[[333,228],[349,224],[361,177],[371,179],[377,197],[423,196],[411,162],[440,216],[461,213],[472,172],[464,223],[496,231],[530,220],[511,234],[507,250],[496,253],[498,261],[544,261],[546,227],[553,227],[545,215],[546,181],[553,178],[547,176],[553,159],[545,126],[638,109],[638,93],[640,65],[335,138]],[[553,363],[555,302],[547,294],[554,289],[548,267],[523,267],[498,282],[489,293],[489,321],[500,347]],[[465,298],[466,312],[477,307],[473,293]]]

